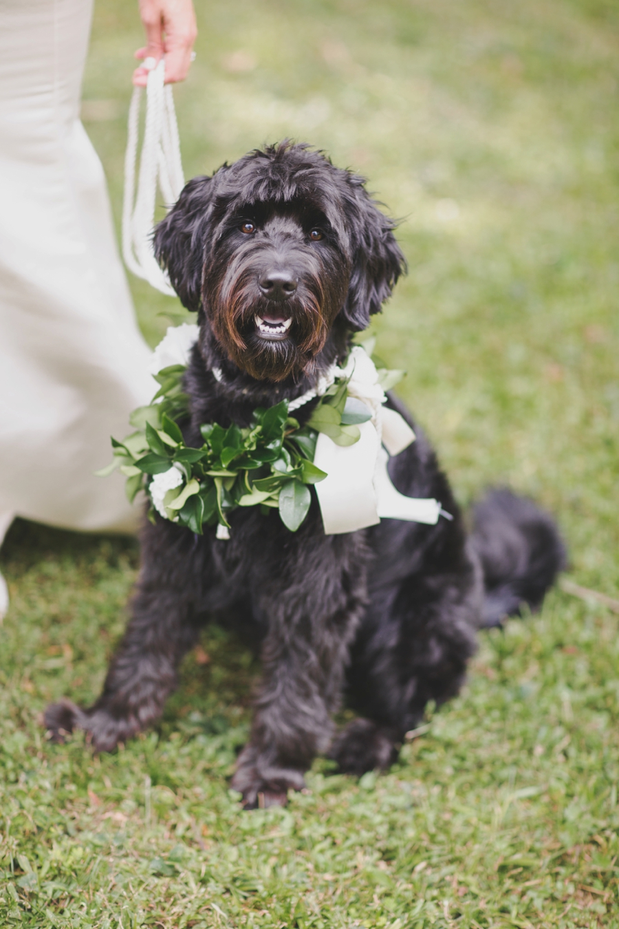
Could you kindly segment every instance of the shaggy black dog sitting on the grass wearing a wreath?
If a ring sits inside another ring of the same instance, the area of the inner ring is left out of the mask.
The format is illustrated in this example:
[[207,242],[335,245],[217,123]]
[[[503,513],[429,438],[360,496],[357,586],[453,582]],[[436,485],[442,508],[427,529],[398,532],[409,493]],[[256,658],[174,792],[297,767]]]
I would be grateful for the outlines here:
[[[187,184],[159,225],[156,253],[200,340],[186,389],[187,444],[201,423],[249,425],[257,406],[299,397],[368,326],[404,269],[393,223],[363,180],[306,146],[253,151]],[[220,369],[221,380],[213,376]],[[410,418],[399,402],[389,404]],[[310,403],[295,415],[303,423]],[[324,533],[316,499],[300,530],[256,507],[235,510],[230,541],[157,517],[145,522],[133,617],[103,693],[87,710],[48,708],[55,738],[85,729],[110,751],[161,715],[178,662],[215,618],[242,621],[264,675],[233,786],[247,807],[284,804],[316,752],[342,771],[385,768],[429,700],[458,692],[476,630],[525,602],[538,608],[563,562],[553,522],[494,491],[467,538],[445,475],[418,425],[392,458],[396,488],[453,514],[436,526],[383,519]],[[345,700],[359,717],[335,739]]]

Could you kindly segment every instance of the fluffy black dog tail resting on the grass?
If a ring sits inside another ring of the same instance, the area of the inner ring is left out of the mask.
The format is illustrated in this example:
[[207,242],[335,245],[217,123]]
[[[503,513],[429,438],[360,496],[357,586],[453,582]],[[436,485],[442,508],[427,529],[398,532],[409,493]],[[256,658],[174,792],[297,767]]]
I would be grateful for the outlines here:
[[500,625],[523,604],[535,612],[566,563],[554,520],[503,488],[489,491],[472,516],[471,543],[484,569],[482,625]]

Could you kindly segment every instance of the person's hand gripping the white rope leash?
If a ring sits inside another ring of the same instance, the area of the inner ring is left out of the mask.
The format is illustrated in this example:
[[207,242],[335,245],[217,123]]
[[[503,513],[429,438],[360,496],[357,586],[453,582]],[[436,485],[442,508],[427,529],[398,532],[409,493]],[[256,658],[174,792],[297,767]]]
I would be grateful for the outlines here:
[[[135,52],[137,59],[155,59],[165,55],[165,83],[184,81],[196,41],[196,14],[192,0],[138,0],[147,45]],[[148,69],[135,69],[134,84],[146,87]]]

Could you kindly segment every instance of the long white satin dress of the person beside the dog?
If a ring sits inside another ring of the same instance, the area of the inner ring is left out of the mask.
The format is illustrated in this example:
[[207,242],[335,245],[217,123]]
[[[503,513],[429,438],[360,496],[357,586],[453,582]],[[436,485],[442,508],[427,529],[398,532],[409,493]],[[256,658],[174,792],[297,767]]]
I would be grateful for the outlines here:
[[135,529],[123,479],[93,475],[155,385],[79,119],[91,14],[0,2],[0,527]]

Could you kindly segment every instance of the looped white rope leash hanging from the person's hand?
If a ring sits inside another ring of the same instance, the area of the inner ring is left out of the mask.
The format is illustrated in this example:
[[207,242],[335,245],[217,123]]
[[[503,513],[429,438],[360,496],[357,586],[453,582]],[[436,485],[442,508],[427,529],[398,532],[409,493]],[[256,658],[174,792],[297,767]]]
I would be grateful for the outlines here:
[[175,296],[167,274],[161,270],[155,258],[152,233],[155,225],[158,181],[168,208],[173,206],[185,186],[178,124],[172,86],[163,83],[165,60],[161,59],[155,66],[153,59],[146,59],[144,67],[150,67],[150,71],[136,196],[135,166],[142,87],[135,87],[129,107],[127,150],[124,158],[123,258],[127,268],[138,278],[148,281],[161,291],[161,294]]

